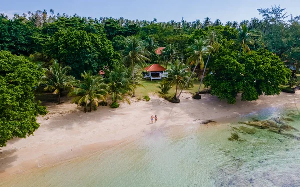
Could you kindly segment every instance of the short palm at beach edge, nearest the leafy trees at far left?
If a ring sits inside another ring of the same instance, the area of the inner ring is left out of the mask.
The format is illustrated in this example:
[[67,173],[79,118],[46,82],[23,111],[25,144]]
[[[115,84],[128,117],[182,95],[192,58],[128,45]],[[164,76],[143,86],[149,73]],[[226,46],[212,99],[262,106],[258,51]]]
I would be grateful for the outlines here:
[[60,92],[68,86],[72,86],[72,81],[75,79],[73,76],[67,75],[71,71],[71,67],[65,66],[64,68],[54,60],[49,69],[45,69],[45,76],[42,77],[42,84],[45,84],[45,91],[53,92],[58,95],[58,104],[60,104]]

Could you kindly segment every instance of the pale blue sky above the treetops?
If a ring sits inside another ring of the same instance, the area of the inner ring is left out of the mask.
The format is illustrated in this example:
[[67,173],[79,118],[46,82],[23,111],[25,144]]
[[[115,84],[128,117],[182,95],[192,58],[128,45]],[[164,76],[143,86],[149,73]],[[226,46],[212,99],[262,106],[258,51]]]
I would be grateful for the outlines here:
[[77,13],[83,17],[124,17],[133,20],[158,22],[184,20],[192,22],[205,17],[212,21],[250,20],[261,18],[257,9],[280,5],[293,16],[299,15],[300,0],[0,0],[0,13],[13,17],[14,13],[46,9],[50,15],[52,8],[57,14]]

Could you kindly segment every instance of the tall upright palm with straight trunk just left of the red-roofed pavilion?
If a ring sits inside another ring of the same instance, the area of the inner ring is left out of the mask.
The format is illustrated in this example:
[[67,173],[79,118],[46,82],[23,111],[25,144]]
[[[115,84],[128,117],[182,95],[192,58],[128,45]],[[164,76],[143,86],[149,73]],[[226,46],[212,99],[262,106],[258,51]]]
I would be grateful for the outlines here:
[[[144,50],[144,44],[141,40],[136,37],[128,37],[126,38],[126,47],[122,51],[123,62],[132,68],[132,79],[133,85],[135,85],[135,66],[141,65],[144,67],[146,65],[146,61],[151,61],[148,56],[151,53],[147,50]],[[133,90],[132,97],[135,97],[135,91]]]

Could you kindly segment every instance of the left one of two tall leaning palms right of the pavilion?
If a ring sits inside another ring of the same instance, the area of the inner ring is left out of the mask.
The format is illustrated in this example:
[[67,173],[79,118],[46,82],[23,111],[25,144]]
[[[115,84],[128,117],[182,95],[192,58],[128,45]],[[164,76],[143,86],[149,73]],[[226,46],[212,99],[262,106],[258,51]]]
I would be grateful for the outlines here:
[[194,44],[192,44],[191,46],[189,46],[187,48],[186,56],[188,56],[188,58],[186,60],[186,63],[187,64],[194,63],[195,67],[194,67],[190,77],[187,79],[185,85],[182,87],[182,90],[181,90],[180,94],[178,95],[178,98],[180,97],[183,89],[186,87],[189,80],[193,76],[198,64],[200,64],[200,68],[203,68],[204,67],[204,59],[203,58],[208,56],[208,54],[210,54],[210,51],[212,51],[212,50],[213,50],[213,48],[210,45],[207,45],[206,41],[204,41],[203,39],[198,39],[198,40],[195,39]]

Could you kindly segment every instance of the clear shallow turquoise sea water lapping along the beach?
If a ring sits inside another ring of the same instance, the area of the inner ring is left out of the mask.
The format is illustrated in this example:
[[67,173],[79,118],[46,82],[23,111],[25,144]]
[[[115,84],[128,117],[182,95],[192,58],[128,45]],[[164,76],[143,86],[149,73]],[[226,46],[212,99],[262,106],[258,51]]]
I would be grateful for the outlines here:
[[[177,126],[88,157],[1,179],[0,186],[300,187],[299,113],[268,108],[239,121],[267,119],[296,129],[276,133],[236,122]],[[241,141],[229,141],[231,133]]]

